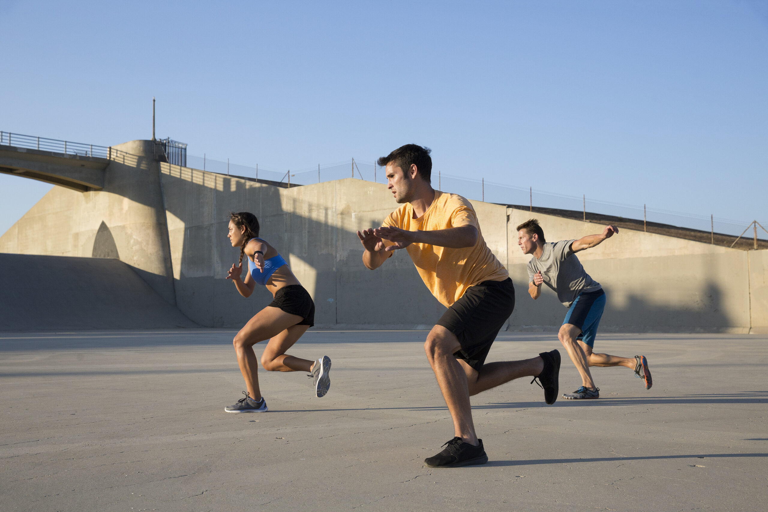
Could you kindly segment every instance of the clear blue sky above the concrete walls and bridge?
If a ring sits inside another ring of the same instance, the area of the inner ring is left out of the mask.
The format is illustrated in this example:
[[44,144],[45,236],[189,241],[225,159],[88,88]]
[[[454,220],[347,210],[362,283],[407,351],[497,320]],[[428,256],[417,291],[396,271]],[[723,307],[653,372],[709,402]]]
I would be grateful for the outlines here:
[[[149,138],[155,96],[190,154],[415,142],[445,173],[768,220],[765,1],[0,0],[0,53],[0,130]],[[0,175],[0,233],[48,188]]]

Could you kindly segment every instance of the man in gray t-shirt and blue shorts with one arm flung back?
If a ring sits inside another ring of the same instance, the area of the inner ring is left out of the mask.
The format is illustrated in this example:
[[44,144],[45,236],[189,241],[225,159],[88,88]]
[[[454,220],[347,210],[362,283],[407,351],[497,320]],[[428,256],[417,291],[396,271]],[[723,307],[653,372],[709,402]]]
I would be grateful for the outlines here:
[[544,283],[558,294],[558,300],[568,308],[558,338],[581,375],[581,388],[573,393],[564,393],[563,398],[600,398],[600,388],[594,385],[590,366],[633,368],[635,375],[643,378],[646,389],[652,385],[644,355],[622,358],[592,352],[594,336],[605,307],[605,292],[599,282],[584,272],[575,253],[597,246],[618,232],[616,226],[605,226],[600,235],[551,243],[545,240],[538,220],[527,220],[518,226],[518,246],[523,254],[533,255],[528,261],[528,293],[533,299],[538,299],[541,284]]

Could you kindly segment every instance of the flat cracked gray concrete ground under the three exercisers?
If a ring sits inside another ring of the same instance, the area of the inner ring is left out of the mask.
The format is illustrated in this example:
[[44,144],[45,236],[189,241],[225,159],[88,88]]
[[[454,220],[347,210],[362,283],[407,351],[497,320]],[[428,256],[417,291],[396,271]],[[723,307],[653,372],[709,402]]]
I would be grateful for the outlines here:
[[[601,398],[543,403],[518,379],[472,398],[489,462],[435,470],[452,438],[426,332],[307,332],[333,385],[260,372],[270,411],[223,411],[243,381],[217,329],[0,333],[2,510],[765,510],[768,337],[611,335],[654,387],[594,368]],[[488,361],[558,348],[502,333]],[[261,348],[257,345],[257,353]],[[564,351],[561,351],[564,353]],[[561,391],[578,387],[564,359]]]

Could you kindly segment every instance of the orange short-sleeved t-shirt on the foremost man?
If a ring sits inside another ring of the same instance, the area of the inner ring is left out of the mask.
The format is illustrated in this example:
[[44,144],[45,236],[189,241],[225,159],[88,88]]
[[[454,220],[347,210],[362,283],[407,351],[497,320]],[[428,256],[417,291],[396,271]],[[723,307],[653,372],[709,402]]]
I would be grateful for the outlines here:
[[451,249],[412,243],[406,247],[424,284],[435,299],[446,307],[452,306],[464,295],[466,289],[478,282],[504,281],[509,277],[507,269],[485,245],[472,204],[455,193],[435,190],[435,199],[419,219],[413,218],[413,207],[406,203],[390,213],[384,221],[384,226],[408,231],[447,230],[467,225],[475,226],[478,230],[475,246]]

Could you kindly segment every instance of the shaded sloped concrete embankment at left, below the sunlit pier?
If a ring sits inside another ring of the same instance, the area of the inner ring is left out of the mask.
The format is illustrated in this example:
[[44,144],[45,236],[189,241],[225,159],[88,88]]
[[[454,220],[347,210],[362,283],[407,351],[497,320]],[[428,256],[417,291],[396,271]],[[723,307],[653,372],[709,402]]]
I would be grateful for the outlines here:
[[197,327],[118,259],[0,253],[0,331]]

